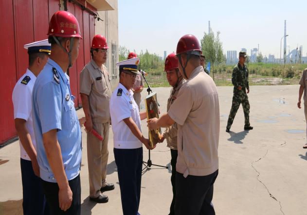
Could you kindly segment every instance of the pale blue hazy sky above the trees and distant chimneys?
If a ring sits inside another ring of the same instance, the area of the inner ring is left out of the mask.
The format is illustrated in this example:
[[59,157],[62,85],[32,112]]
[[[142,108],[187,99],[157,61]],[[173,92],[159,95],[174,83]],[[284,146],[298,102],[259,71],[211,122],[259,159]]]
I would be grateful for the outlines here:
[[263,55],[279,58],[286,19],[287,53],[302,45],[307,54],[307,0],[119,0],[118,12],[119,44],[138,53],[176,51],[186,33],[200,40],[210,20],[224,52],[246,48],[250,54],[259,44]]

